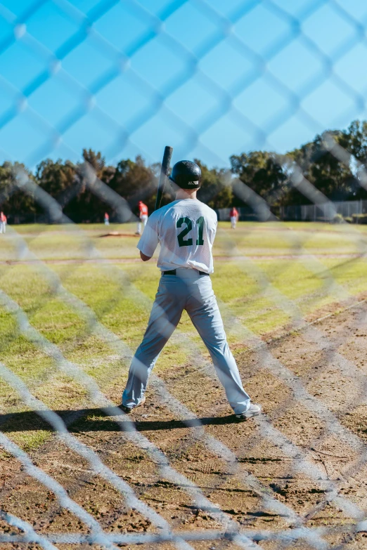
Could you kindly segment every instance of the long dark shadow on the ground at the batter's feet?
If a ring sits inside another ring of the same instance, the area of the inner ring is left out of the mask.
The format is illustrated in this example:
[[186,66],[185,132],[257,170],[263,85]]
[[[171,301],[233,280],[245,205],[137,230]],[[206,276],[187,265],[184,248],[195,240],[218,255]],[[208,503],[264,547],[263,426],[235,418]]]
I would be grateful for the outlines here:
[[[39,411],[41,412],[41,411]],[[199,419],[182,420],[146,420],[141,417],[134,418],[124,414],[118,416],[115,410],[111,410],[107,416],[101,409],[79,409],[79,410],[55,410],[65,422],[67,429],[72,433],[87,431],[158,431],[175,430],[184,428],[195,428],[209,424],[235,424],[239,420],[234,414],[226,417],[203,417]],[[108,412],[108,410],[106,410]],[[44,420],[36,411],[13,412],[0,414],[0,431],[54,431],[51,424]]]

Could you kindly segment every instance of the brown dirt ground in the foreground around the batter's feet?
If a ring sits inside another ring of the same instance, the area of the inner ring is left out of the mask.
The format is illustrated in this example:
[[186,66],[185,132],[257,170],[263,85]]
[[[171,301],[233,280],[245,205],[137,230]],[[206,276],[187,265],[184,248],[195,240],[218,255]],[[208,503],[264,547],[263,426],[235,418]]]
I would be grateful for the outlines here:
[[[213,506],[221,507],[228,525],[233,521],[232,527],[247,532],[262,548],[283,548],[279,540],[266,541],[266,532],[286,530],[290,534],[291,528],[304,525],[311,530],[318,528],[318,535],[335,549],[367,549],[367,524],[366,532],[363,526],[361,532],[354,532],[356,516],[359,520],[367,516],[366,348],[367,305],[360,303],[274,340],[268,348],[272,358],[261,348],[237,357],[245,387],[264,408],[263,417],[237,421],[219,384],[195,365],[186,365],[163,372],[161,379],[193,412],[191,422],[190,417],[174,415],[160,398],[159,387],[151,384],[146,406],[125,418],[126,426],[135,421],[138,431],[166,454],[174,469],[200,487]],[[119,388],[109,397],[118,402]],[[60,414],[70,431],[96,451],[172,528],[225,530],[213,511],[195,507],[188,487],[177,487],[172,480],[162,478],[148,450],[134,445],[129,433],[120,432],[112,417],[88,407]],[[194,416],[211,438],[202,438],[202,428],[195,425]],[[16,429],[47,426],[33,412],[24,412],[0,416],[0,429],[11,437]],[[229,454],[224,456],[223,447],[216,447],[214,440],[236,453],[237,464]],[[34,463],[56,478],[106,532],[156,532],[56,438],[31,454]],[[72,513],[61,510],[53,493],[32,480],[15,459],[0,457],[1,509],[29,521],[37,532],[88,532]],[[284,505],[283,511],[276,509],[272,499]],[[0,532],[19,533],[1,520]],[[305,539],[289,539],[289,543],[292,548],[312,547]],[[227,539],[191,545],[219,550],[235,543]],[[88,544],[57,546],[86,548]],[[174,547],[172,543],[163,546]],[[4,543],[1,547],[10,549],[17,544]]]

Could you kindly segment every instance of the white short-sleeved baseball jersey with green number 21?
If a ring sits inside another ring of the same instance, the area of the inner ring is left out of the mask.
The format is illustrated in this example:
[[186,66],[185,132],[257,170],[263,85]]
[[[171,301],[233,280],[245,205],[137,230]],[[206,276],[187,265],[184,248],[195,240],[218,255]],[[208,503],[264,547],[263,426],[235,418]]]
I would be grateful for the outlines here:
[[175,200],[149,216],[137,247],[151,257],[160,243],[157,267],[162,271],[188,268],[213,273],[217,225],[217,214],[200,200]]

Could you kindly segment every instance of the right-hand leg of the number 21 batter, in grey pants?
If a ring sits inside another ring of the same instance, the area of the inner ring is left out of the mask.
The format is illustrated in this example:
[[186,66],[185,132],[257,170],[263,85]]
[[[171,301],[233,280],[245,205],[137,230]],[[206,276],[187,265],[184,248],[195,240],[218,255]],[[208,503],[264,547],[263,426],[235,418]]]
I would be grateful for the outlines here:
[[223,321],[212,289],[212,281],[202,275],[192,287],[186,311],[212,357],[214,367],[235,414],[250,407],[250,396],[243,389],[236,360],[228,348]]

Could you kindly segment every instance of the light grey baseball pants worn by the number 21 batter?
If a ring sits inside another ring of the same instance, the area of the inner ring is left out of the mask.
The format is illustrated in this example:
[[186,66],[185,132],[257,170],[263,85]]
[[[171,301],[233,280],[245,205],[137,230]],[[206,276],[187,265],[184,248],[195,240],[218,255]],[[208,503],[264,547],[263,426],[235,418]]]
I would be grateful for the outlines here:
[[236,414],[247,411],[250,397],[243,389],[236,361],[228,348],[212,281],[208,275],[184,268],[177,269],[176,275],[160,278],[146,333],[131,362],[122,405],[135,407],[141,402],[149,374],[184,309],[207,346],[233,411]]

